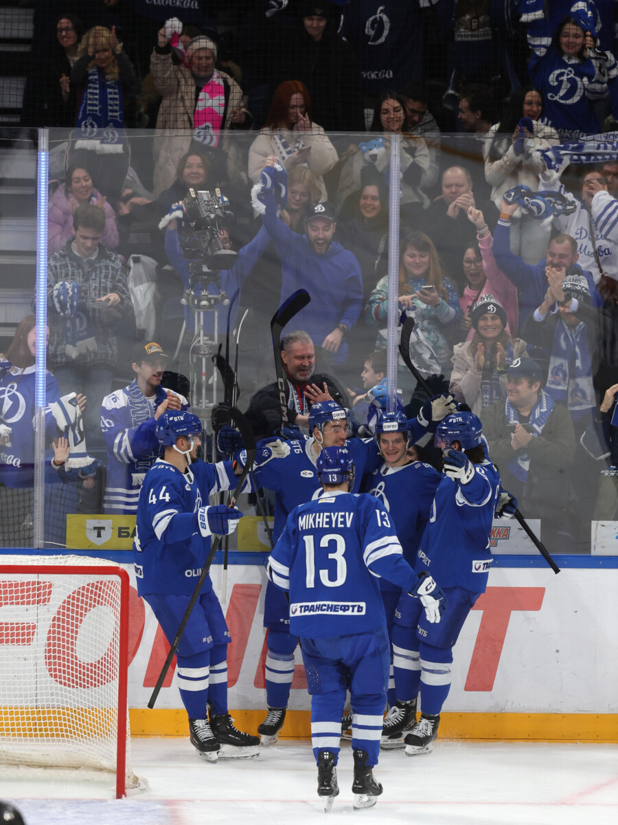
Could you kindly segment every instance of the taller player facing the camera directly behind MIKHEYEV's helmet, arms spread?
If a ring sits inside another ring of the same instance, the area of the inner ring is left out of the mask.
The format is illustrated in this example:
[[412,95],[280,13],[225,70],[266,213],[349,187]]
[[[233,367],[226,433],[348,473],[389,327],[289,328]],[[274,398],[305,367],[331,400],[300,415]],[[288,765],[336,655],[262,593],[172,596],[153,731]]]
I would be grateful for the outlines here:
[[[311,501],[321,493],[317,479],[316,461],[323,447],[344,445],[358,468],[354,490],[360,490],[363,474],[371,473],[380,463],[375,442],[348,440],[348,422],[344,408],[335,401],[313,404],[309,411],[308,441],[286,441],[283,452],[273,455],[272,447],[258,450],[255,459],[255,483],[275,493],[274,540],[281,535],[286,519],[298,504]],[[266,701],[268,714],[258,727],[262,744],[276,741],[283,727],[288,707],[290,686],[294,676],[296,635],[289,630],[288,602],[283,592],[270,582],[266,588],[264,626],[268,628],[266,655]]]

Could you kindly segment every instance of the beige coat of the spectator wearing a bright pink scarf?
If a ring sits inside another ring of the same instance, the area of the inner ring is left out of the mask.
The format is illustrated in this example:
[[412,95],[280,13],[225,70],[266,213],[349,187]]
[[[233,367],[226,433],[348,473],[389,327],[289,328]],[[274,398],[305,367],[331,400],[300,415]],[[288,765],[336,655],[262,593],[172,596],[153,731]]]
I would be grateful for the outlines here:
[[[191,144],[194,129],[195,82],[189,68],[172,63],[171,54],[157,54],[153,51],[150,56],[150,71],[155,88],[163,97],[157,115],[157,136],[153,147],[154,192],[155,196],[158,196],[176,180],[176,166]],[[229,74],[219,70],[218,72],[230,90],[223,129],[231,130],[234,112],[238,109],[246,111],[246,97]],[[231,136],[223,135],[219,145],[227,158],[227,174],[230,181],[246,179],[239,163],[241,153],[233,144]]]

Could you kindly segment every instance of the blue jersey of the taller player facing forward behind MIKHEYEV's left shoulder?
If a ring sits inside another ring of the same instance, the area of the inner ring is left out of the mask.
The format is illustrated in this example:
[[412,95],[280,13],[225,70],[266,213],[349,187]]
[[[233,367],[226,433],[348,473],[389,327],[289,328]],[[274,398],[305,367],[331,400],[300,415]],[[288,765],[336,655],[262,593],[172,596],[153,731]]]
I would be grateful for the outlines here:
[[[265,445],[272,438],[260,442],[257,463]],[[274,540],[279,538],[285,526],[288,515],[298,504],[311,501],[321,493],[321,485],[317,478],[316,460],[314,452],[314,438],[307,441],[287,441],[290,448],[289,455],[284,458],[269,460],[255,469],[255,483],[258,487],[273,490],[274,498]],[[346,448],[354,461],[355,479],[353,493],[361,489],[363,475],[372,473],[380,464],[381,457],[373,439],[363,441],[360,438],[350,438],[345,442]]]

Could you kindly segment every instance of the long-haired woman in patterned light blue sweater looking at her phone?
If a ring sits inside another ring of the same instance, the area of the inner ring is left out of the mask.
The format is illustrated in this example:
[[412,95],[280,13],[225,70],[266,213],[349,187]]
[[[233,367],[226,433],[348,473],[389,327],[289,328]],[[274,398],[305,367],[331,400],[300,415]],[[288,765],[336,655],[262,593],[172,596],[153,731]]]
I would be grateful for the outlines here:
[[[376,348],[386,347],[388,316],[387,276],[377,282],[365,307],[367,323],[379,325]],[[422,232],[408,231],[401,239],[398,308],[414,311],[415,327],[438,358],[444,375],[450,375],[452,338],[461,322],[456,286],[443,274],[438,252]]]

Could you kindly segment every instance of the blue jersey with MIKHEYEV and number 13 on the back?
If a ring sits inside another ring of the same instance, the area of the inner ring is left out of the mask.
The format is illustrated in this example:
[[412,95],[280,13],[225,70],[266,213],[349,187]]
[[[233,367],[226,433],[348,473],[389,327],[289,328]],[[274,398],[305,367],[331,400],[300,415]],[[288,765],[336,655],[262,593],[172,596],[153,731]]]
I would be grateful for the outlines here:
[[310,639],[386,626],[378,577],[406,590],[418,582],[386,510],[372,496],[342,491],[290,513],[268,571],[289,590],[290,632]]

